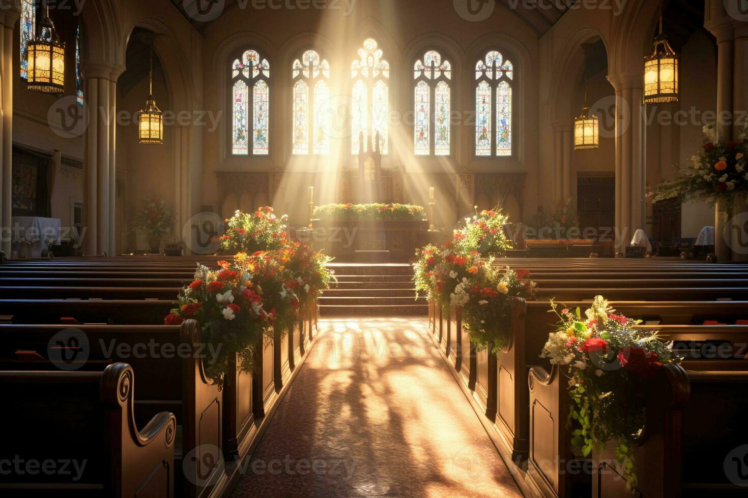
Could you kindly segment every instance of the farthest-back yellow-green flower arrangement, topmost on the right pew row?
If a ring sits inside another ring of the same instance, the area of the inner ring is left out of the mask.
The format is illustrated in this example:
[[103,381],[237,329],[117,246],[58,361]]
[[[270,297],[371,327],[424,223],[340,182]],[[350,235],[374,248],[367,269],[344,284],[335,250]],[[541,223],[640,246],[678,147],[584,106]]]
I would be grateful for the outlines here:
[[454,232],[454,243],[466,251],[478,251],[492,255],[504,255],[512,249],[512,242],[506,237],[504,225],[509,217],[501,211],[478,212],[474,217],[465,218],[465,226]]

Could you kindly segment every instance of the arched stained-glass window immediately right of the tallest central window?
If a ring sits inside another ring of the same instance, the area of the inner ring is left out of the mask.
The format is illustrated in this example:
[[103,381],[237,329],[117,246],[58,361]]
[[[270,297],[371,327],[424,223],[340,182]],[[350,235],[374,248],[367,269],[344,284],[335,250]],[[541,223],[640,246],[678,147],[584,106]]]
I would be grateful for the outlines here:
[[416,155],[450,155],[450,80],[452,66],[441,54],[429,50],[413,69],[414,152]]

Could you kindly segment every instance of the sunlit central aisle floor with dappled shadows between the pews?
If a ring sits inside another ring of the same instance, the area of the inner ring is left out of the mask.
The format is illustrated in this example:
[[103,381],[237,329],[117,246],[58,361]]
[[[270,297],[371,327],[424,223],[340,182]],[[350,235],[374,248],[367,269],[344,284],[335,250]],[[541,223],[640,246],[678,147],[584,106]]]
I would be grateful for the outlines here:
[[321,320],[233,497],[520,497],[427,327]]

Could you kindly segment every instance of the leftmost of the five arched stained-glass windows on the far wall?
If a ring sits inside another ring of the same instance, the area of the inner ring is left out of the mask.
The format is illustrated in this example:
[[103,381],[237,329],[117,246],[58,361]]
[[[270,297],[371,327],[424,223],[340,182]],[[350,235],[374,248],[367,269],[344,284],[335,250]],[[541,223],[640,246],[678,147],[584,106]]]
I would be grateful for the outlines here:
[[231,153],[268,155],[270,64],[256,50],[247,50],[231,64]]

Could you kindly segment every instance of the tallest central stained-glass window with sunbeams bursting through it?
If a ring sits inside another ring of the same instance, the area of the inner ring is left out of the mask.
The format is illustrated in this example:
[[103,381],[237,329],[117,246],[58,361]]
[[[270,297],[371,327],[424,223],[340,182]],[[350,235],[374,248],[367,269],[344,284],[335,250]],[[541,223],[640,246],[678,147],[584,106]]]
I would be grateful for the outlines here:
[[351,152],[358,154],[361,134],[364,136],[364,150],[368,149],[368,137],[373,142],[379,134],[379,150],[389,152],[390,140],[387,134],[387,106],[389,101],[390,63],[382,58],[376,40],[364,40],[358,49],[358,59],[351,64],[352,116]]

